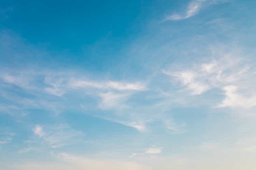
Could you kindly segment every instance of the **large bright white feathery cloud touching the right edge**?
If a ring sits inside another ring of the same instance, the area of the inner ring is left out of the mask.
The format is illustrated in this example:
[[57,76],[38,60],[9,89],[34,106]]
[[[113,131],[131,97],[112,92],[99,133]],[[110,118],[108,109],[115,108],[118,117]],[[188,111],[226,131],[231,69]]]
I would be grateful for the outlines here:
[[241,58],[223,55],[224,57],[198,63],[191,68],[162,72],[178,80],[191,95],[200,95],[213,88],[224,91],[225,99],[218,107],[255,106],[256,88],[252,84],[255,83],[256,74],[253,67]]

